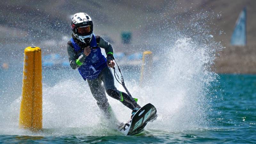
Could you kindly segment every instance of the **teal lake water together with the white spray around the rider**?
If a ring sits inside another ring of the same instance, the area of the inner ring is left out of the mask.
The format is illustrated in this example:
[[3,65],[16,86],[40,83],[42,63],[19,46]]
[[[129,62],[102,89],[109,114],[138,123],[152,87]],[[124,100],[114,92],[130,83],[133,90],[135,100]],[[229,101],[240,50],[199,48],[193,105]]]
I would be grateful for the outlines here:
[[[139,104],[150,102],[158,110],[156,121],[136,136],[115,131],[87,82],[71,69],[43,70],[43,130],[19,129],[22,67],[1,69],[0,142],[255,143],[256,75],[217,75],[209,69],[214,53],[211,43],[179,39],[154,64],[143,88],[139,67],[121,68]],[[108,100],[116,118],[127,121],[131,110]]]

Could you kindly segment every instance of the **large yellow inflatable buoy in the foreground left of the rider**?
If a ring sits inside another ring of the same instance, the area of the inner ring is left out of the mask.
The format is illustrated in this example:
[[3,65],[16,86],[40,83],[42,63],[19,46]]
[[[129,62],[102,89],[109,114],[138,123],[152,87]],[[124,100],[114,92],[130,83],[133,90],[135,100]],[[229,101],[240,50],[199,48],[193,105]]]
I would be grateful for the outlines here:
[[39,47],[24,50],[20,128],[42,129],[42,59]]

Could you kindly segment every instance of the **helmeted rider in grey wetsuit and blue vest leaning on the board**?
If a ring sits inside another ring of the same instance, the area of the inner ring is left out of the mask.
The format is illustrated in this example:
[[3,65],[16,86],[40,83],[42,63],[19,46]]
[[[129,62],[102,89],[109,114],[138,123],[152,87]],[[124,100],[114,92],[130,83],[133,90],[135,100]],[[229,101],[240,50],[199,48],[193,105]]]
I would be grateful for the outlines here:
[[[88,85],[98,106],[108,118],[111,117],[111,106],[106,93],[122,102],[132,110],[132,116],[139,110],[140,105],[129,95],[116,89],[114,77],[110,70],[115,66],[113,62],[113,48],[102,37],[93,34],[92,19],[86,13],[76,13],[72,17],[72,38],[68,41],[68,59],[72,69],[78,69]],[[105,58],[101,49],[105,49]],[[103,82],[103,85],[102,85]]]

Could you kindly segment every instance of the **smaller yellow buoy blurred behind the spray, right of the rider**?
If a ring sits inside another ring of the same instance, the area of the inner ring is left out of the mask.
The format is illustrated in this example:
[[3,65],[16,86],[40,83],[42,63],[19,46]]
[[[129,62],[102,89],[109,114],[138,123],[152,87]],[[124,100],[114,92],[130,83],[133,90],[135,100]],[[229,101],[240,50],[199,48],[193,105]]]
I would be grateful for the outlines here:
[[144,86],[151,80],[153,66],[153,53],[144,51],[142,57],[142,65],[140,70],[140,86]]

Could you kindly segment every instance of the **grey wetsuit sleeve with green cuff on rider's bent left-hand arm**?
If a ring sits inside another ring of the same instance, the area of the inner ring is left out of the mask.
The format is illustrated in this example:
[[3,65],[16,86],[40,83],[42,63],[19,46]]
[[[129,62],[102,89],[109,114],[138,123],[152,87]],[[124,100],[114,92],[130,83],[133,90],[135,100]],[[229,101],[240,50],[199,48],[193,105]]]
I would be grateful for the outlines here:
[[76,51],[70,41],[67,44],[67,51],[69,64],[72,69],[77,69],[84,63],[86,56],[82,53],[81,56],[77,57]]

